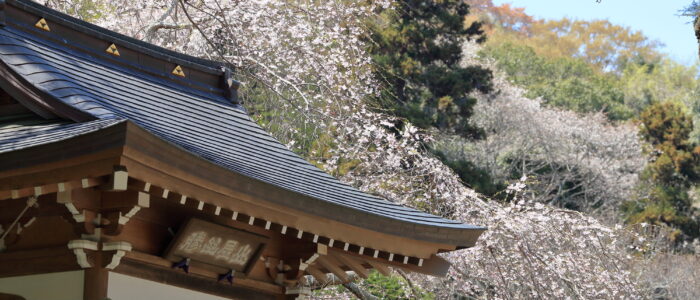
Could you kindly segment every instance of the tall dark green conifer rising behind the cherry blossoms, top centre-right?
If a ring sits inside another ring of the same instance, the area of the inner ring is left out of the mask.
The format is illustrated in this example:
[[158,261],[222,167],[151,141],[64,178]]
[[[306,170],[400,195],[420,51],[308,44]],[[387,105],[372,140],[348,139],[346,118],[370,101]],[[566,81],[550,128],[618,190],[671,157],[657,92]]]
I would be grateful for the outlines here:
[[385,82],[380,108],[422,127],[475,135],[467,119],[474,90],[491,90],[492,74],[462,67],[462,43],[484,41],[481,24],[465,26],[463,1],[407,0],[396,3],[372,24],[370,53]]

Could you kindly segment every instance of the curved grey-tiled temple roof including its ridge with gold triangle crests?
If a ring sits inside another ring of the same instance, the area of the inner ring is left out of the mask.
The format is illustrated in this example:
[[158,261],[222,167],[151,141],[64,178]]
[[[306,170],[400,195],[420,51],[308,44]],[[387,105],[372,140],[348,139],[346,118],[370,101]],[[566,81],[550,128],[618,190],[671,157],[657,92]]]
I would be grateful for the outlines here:
[[[471,246],[473,232],[484,230],[361,192],[318,169],[231,101],[219,84],[225,72],[215,62],[127,38],[29,1],[7,3],[27,14],[6,14],[7,25],[0,27],[0,62],[46,101],[22,104],[58,119],[0,121],[0,153],[132,122],[173,147],[290,195],[433,228],[434,241]],[[45,18],[51,31],[35,26],[38,17]],[[120,56],[105,52],[111,44]],[[173,74],[173,66],[186,76]]]

